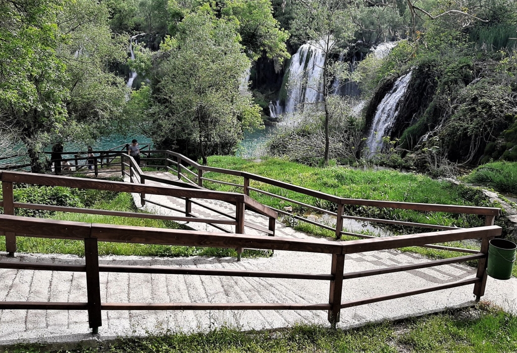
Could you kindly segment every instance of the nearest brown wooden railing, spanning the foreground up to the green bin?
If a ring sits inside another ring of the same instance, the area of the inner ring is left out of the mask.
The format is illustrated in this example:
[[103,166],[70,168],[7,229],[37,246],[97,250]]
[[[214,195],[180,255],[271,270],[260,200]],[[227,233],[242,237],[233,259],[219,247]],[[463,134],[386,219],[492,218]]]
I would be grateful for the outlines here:
[[[13,179],[11,176],[9,178],[10,180]],[[139,186],[139,188],[142,187]],[[5,200],[4,208],[6,208]],[[6,210],[12,210],[12,205],[7,205]],[[84,241],[84,265],[0,261],[0,268],[86,272],[86,300],[84,302],[0,302],[0,309],[87,310],[89,327],[92,328],[93,333],[97,333],[98,328],[102,326],[102,310],[325,310],[328,311],[329,322],[333,327],[335,327],[336,323],[340,320],[340,311],[342,308],[349,308],[351,306],[394,298],[402,298],[430,291],[474,284],[474,295],[476,296],[476,299],[479,300],[480,297],[484,295],[486,285],[486,257],[488,256],[488,242],[491,238],[501,234],[501,228],[497,226],[484,226],[397,237],[330,242],[323,240],[227,235],[224,233],[178,231],[174,229],[89,224],[0,215],[0,232],[5,233],[6,236],[8,234],[23,232],[25,236],[29,237]],[[346,254],[473,238],[482,239],[481,250],[476,254],[443,260],[432,260],[419,264],[344,273],[344,260]],[[330,273],[293,273],[184,267],[100,265],[98,257],[98,241],[187,245],[195,247],[253,247],[269,250],[324,253],[332,255],[331,271]],[[469,260],[478,260],[477,273],[473,278],[358,300],[346,300],[344,298],[346,291],[343,291],[343,281],[347,279],[408,271],[445,264],[462,263]],[[101,302],[100,295],[99,272],[196,274],[329,281],[329,300],[326,303],[103,303]]]

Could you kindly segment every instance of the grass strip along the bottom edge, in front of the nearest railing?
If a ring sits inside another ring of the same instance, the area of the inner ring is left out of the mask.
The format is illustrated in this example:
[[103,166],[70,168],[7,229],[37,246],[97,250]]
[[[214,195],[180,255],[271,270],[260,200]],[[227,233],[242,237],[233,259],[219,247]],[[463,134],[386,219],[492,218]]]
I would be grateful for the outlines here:
[[[34,345],[12,351],[38,352]],[[70,353],[352,353],[352,352],[484,352],[517,351],[517,317],[481,303],[475,308],[372,324],[351,330],[295,326],[274,331],[242,332],[218,328],[202,333],[167,332],[114,342]],[[62,351],[64,353],[64,351]]]

